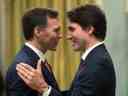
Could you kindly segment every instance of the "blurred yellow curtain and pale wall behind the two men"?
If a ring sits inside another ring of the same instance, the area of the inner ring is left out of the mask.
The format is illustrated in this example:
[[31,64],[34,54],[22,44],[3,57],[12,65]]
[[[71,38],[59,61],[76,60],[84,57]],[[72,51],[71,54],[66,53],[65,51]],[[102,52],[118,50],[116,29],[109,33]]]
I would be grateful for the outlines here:
[[65,12],[84,4],[98,4],[107,17],[105,43],[114,61],[116,96],[128,96],[128,0],[0,0],[0,70],[3,77],[14,56],[24,44],[21,17],[35,7],[59,11],[63,34],[56,52],[47,58],[61,90],[68,89],[77,70],[80,53],[74,53],[66,37]]

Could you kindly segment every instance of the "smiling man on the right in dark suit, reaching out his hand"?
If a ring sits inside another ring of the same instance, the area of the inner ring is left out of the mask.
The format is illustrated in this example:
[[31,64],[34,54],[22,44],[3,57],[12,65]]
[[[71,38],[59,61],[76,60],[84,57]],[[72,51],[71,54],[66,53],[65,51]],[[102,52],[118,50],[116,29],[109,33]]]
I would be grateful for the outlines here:
[[[69,90],[63,94],[53,87],[45,96],[115,96],[114,66],[103,42],[106,37],[105,14],[95,5],[85,5],[69,11],[68,18],[68,39],[75,51],[83,51],[81,62]],[[31,73],[29,67],[24,69]],[[19,69],[22,73],[22,67]],[[29,86],[34,85],[32,81],[28,82]]]

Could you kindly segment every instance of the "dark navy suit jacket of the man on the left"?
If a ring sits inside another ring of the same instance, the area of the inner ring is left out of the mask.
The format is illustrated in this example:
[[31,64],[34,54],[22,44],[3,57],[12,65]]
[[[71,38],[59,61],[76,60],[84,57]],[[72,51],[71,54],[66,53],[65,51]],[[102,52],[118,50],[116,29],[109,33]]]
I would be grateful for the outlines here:
[[[24,46],[21,49],[15,57],[14,62],[10,65],[6,75],[7,96],[39,96],[39,93],[29,88],[16,73],[16,65],[18,63],[24,62],[36,68],[38,60],[39,57],[37,54],[29,47]],[[50,73],[47,68],[42,70],[42,74],[44,75],[46,82],[59,92],[54,75]]]

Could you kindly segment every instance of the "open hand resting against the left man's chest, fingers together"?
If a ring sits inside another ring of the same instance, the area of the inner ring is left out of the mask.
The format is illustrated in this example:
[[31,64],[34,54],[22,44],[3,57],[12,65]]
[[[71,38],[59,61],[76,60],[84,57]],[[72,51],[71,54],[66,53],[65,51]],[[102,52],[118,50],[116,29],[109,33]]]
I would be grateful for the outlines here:
[[41,71],[41,60],[37,63],[37,69],[28,64],[20,63],[16,66],[17,74],[32,89],[42,93],[48,90],[48,84],[45,82]]

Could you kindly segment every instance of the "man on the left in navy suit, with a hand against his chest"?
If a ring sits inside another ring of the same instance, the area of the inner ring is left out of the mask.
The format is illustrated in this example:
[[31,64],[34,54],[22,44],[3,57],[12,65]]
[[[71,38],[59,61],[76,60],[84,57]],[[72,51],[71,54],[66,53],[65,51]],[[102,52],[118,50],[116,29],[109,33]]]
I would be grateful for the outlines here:
[[[51,85],[59,91],[54,75],[44,57],[47,50],[56,49],[56,45],[61,37],[58,13],[51,9],[34,8],[23,16],[22,27],[26,43],[8,69],[6,75],[7,96],[39,96],[42,94],[42,90],[40,90],[42,86],[30,88],[19,77],[20,73],[18,73],[19,75],[17,74],[16,66],[20,62],[30,65],[35,69],[35,73],[40,71],[40,78],[45,78],[46,81],[45,84],[42,83],[43,79],[41,79],[41,82],[38,82],[43,84],[43,89],[50,89],[51,87],[48,85]],[[42,62],[42,65],[38,66],[37,62]],[[26,78],[31,80],[31,75],[34,76],[33,74],[27,74],[28,77]],[[33,82],[37,81],[33,80]],[[43,91],[43,93],[45,92]]]

